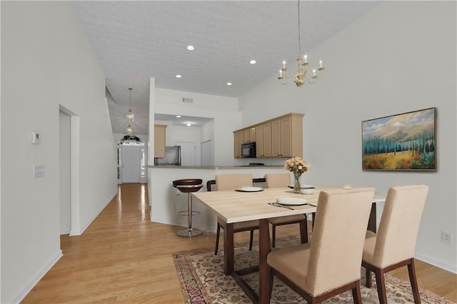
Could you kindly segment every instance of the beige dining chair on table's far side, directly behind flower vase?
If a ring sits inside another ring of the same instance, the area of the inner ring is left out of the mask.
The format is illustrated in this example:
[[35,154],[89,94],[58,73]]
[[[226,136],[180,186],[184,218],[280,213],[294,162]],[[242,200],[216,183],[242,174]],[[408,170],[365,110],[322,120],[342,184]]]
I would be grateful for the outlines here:
[[[289,173],[267,173],[265,174],[266,188],[286,188],[291,184]],[[308,242],[308,221],[306,215],[281,216],[280,218],[268,218],[271,223],[271,247],[276,247],[276,226],[298,224],[300,226],[301,243]]]

